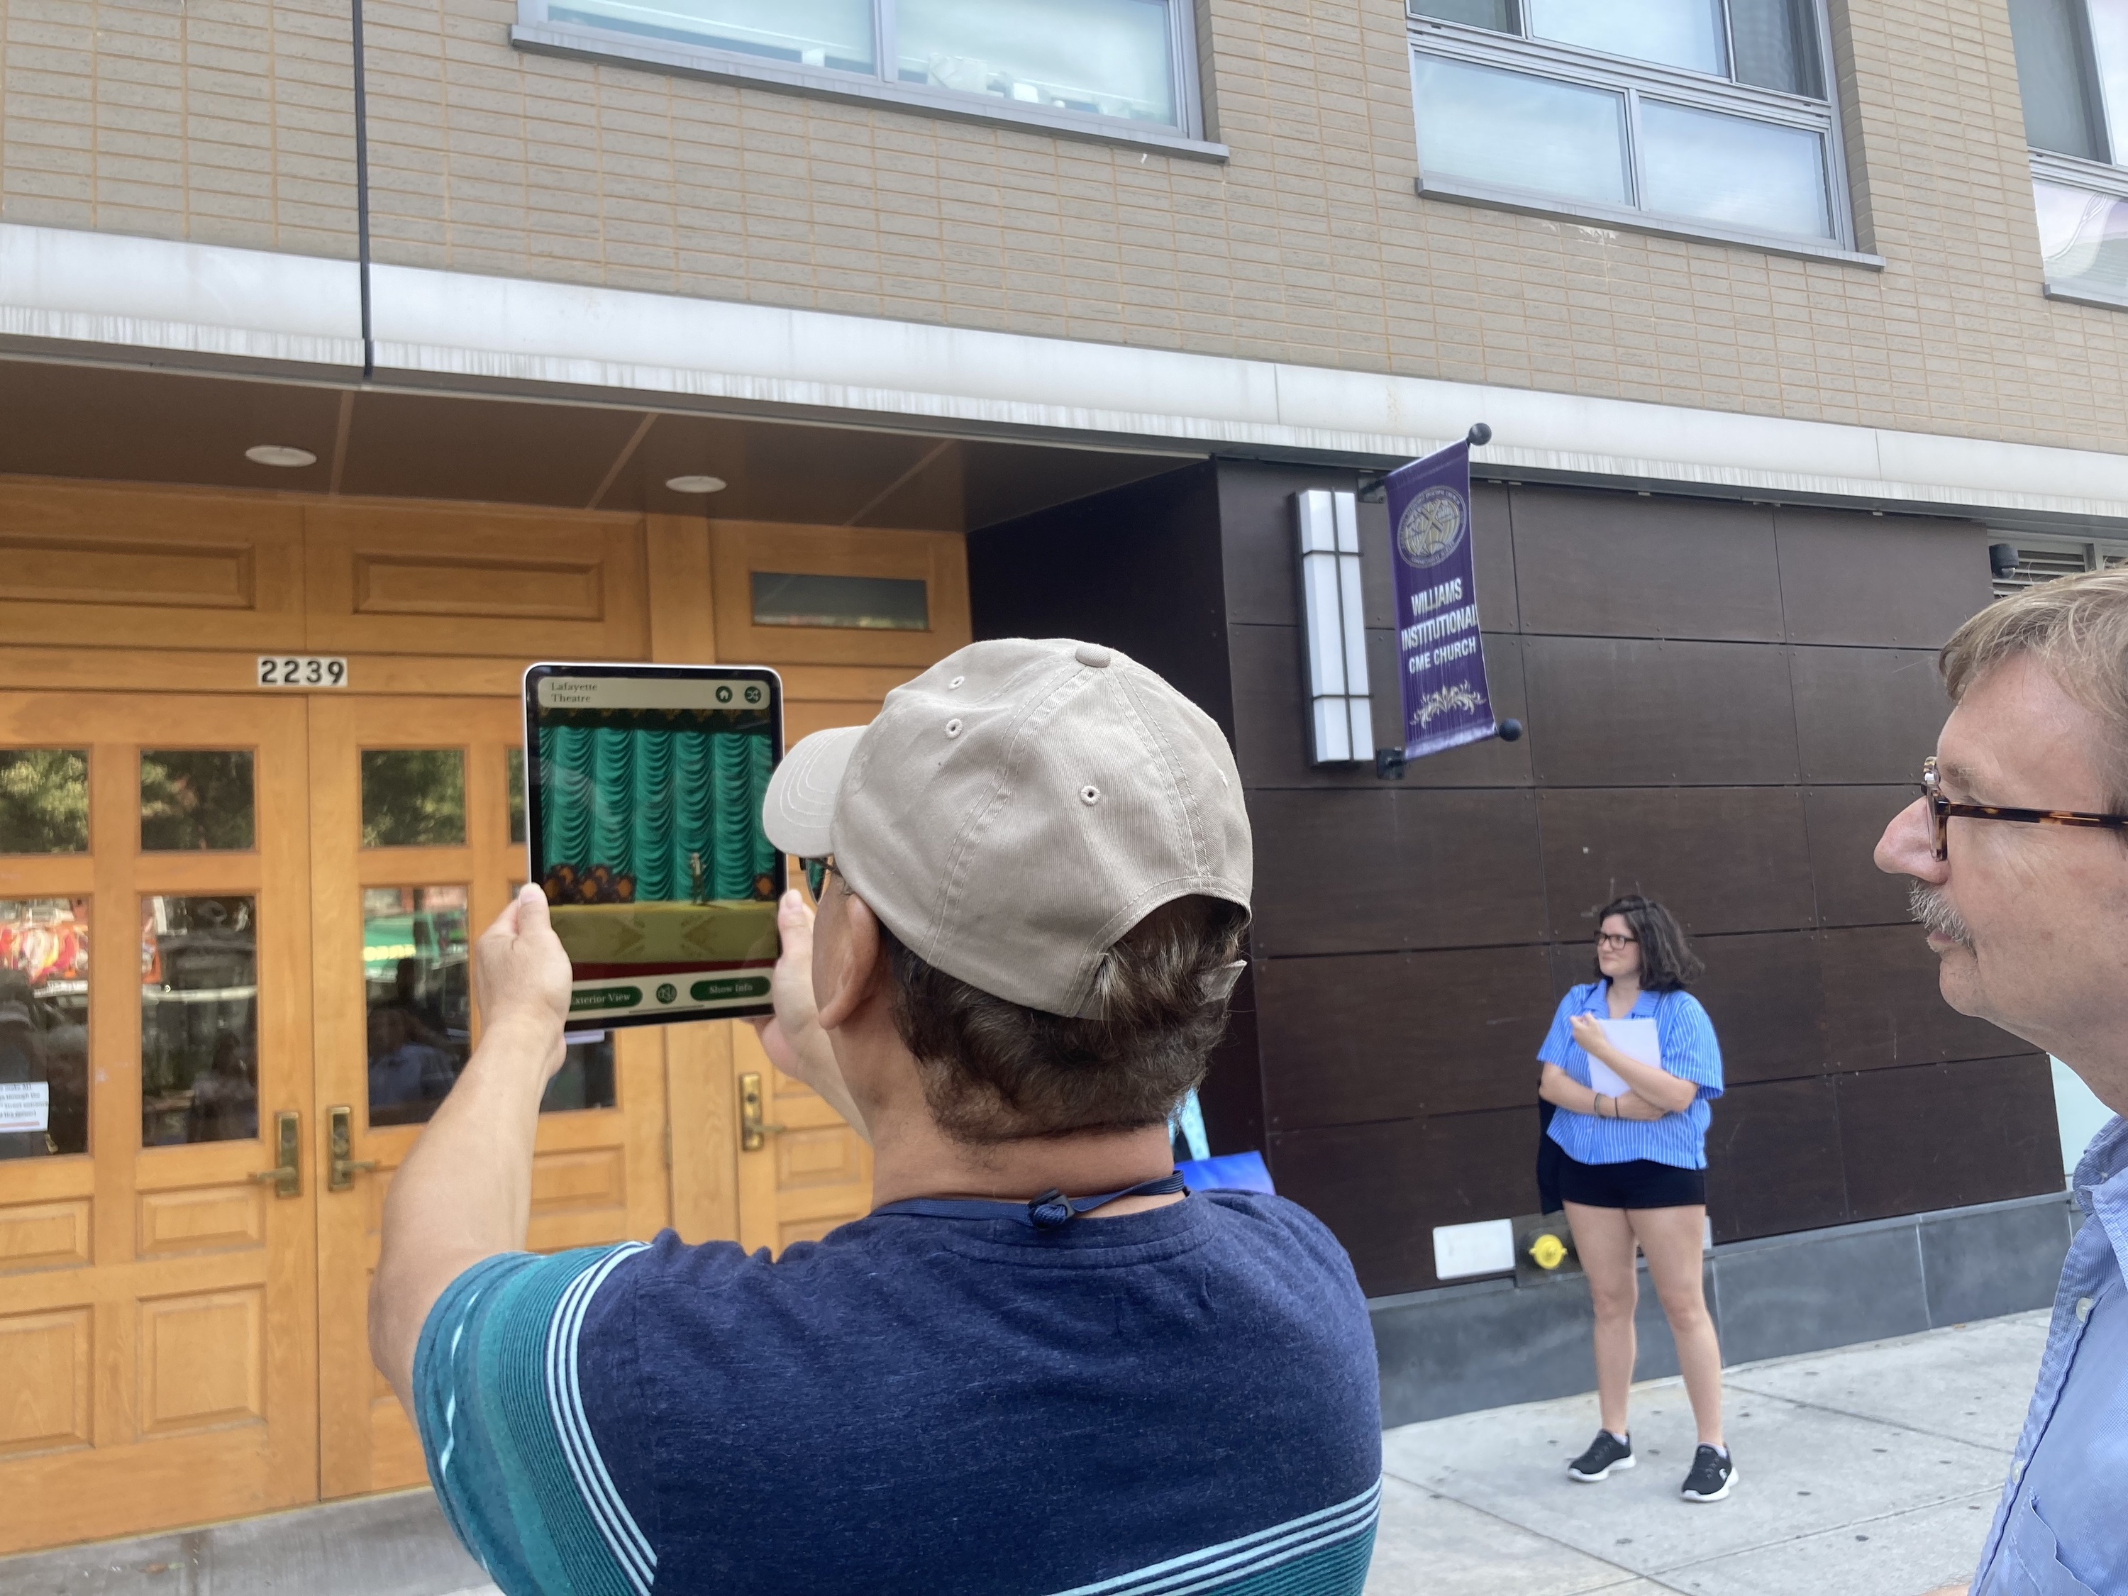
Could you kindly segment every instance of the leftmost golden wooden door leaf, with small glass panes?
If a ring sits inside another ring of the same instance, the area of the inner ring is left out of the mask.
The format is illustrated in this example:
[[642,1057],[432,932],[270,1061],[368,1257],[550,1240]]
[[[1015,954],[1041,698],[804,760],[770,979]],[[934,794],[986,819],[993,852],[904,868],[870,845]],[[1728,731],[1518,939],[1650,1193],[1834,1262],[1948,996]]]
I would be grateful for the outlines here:
[[[40,1043],[55,1079],[85,1060],[87,1151],[0,1160],[0,1551],[317,1494],[309,849],[270,824],[302,809],[302,724],[266,696],[0,694],[0,747],[89,755],[89,851],[0,887],[87,938],[85,1041]],[[143,749],[249,753],[253,845],[143,851]],[[281,1113],[289,1198],[251,1179]]]

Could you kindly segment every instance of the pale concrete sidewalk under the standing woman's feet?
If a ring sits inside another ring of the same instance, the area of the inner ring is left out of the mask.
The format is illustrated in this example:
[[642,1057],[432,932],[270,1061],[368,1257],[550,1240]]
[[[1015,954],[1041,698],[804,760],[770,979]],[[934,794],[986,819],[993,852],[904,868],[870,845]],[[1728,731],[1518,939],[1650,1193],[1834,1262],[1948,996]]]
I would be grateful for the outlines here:
[[1639,1466],[1566,1479],[1596,1398],[1383,1436],[1368,1596],[1917,1596],[1973,1575],[2047,1341],[2017,1313],[1728,1370],[1726,1502],[1677,1496],[1692,1409],[1634,1387]]

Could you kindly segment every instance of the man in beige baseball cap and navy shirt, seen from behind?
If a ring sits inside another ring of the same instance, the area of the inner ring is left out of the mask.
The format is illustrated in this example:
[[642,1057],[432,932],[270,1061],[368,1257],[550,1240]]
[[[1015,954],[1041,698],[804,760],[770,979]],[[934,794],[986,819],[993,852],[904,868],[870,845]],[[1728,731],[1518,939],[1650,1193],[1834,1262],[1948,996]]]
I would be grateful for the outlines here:
[[1219,728],[1113,649],[977,643],[798,743],[764,817],[819,911],[781,907],[762,1041],[870,1138],[872,1213],[777,1260],[515,1251],[568,998],[523,894],[372,1313],[466,1545],[513,1596],[1358,1596],[1381,1417],[1351,1266],[1168,1151],[1249,915]]

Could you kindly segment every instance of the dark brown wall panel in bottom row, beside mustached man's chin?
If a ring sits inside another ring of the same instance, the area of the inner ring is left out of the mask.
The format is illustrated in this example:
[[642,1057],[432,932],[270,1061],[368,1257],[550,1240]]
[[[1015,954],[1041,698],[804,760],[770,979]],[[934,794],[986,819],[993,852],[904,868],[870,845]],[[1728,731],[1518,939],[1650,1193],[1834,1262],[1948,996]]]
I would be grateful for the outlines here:
[[2062,1190],[2045,1053],[1834,1077],[1856,1219]]

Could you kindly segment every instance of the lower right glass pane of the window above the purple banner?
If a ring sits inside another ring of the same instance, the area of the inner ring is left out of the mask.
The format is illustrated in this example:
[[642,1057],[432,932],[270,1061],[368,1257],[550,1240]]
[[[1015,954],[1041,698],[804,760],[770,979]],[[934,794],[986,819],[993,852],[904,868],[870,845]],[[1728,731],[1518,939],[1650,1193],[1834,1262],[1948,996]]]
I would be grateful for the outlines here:
[[1649,211],[1832,236],[1826,140],[1809,128],[1641,100],[1641,174]]

